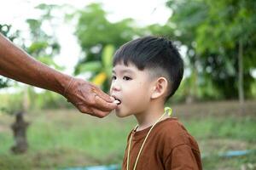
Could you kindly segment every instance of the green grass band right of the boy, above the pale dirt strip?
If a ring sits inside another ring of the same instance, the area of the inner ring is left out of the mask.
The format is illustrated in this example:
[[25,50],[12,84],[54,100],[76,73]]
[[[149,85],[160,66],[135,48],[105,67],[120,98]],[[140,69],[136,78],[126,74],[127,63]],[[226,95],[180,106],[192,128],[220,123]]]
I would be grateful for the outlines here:
[[252,116],[207,116],[200,119],[184,120],[183,123],[190,133],[200,139],[231,138],[247,142],[256,141],[256,117]]

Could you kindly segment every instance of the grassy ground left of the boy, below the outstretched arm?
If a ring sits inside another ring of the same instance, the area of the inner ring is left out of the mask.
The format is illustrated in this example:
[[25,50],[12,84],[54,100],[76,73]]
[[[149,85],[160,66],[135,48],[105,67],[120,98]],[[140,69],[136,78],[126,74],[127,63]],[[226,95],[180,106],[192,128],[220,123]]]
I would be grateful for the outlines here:
[[[12,121],[9,116],[1,118],[0,125],[5,119]],[[27,119],[31,122],[27,131],[28,152],[23,156],[12,155],[9,152],[13,145],[12,133],[3,131],[0,133],[0,167],[49,169],[119,164],[126,135],[135,123],[133,119],[121,120],[116,116],[99,119],[76,111],[42,111],[27,115]]]

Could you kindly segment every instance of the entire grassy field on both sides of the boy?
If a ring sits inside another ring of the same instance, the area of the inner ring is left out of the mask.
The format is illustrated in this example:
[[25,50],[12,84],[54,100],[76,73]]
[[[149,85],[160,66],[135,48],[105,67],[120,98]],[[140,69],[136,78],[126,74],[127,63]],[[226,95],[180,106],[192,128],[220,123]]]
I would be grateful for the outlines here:
[[[175,105],[177,116],[197,139],[204,169],[256,169],[256,152],[220,157],[228,150],[256,150],[256,102],[249,101],[242,114],[236,102]],[[120,164],[126,135],[136,122],[112,114],[104,119],[74,110],[32,111],[27,132],[29,150],[15,156],[9,128],[14,117],[0,115],[0,169],[58,169]]]

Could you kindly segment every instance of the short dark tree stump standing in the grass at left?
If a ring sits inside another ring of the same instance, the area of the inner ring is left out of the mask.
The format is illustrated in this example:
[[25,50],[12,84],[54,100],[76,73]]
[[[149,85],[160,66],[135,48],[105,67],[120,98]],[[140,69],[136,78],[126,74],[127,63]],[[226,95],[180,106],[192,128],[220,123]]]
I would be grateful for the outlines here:
[[29,123],[24,121],[23,114],[23,111],[18,112],[16,114],[16,121],[11,126],[15,137],[15,145],[11,147],[11,150],[15,154],[26,152],[28,146],[26,141],[26,128]]

